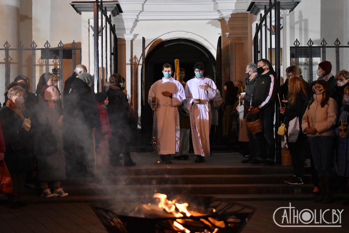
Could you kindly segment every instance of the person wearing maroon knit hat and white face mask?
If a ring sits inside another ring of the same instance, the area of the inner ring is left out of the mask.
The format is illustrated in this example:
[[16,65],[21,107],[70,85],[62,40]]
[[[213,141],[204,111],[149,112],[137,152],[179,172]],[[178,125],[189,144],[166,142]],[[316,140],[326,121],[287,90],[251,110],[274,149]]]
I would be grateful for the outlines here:
[[329,61],[320,62],[316,74],[318,75],[318,80],[323,79],[328,85],[329,97],[336,99],[336,80],[331,73],[332,64]]

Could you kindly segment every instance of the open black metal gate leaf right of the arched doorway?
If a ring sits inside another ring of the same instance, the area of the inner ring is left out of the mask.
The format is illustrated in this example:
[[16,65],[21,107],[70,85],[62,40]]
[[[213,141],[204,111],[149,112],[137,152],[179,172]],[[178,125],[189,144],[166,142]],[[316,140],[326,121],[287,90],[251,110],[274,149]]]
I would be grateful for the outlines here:
[[[275,25],[272,24],[274,10]],[[269,20],[268,20],[269,19]],[[269,22],[268,22],[269,21]],[[263,28],[264,27],[264,28]],[[264,29],[264,37],[263,37]],[[267,30],[269,30],[269,38]],[[273,40],[274,32],[274,40]],[[264,39],[264,40],[263,40]],[[268,40],[269,39],[269,40]],[[274,42],[274,45],[273,45]],[[264,44],[264,50],[263,50]],[[269,45],[269,49],[268,49]],[[274,48],[274,49],[273,49]],[[281,44],[280,44],[280,1],[269,1],[269,6],[264,6],[264,15],[260,14],[259,23],[256,24],[256,30],[253,37],[253,62],[257,64],[258,60],[264,58],[275,66],[277,90],[280,89],[281,74]],[[268,57],[269,54],[269,57]],[[275,144],[276,144],[276,163],[281,163],[281,137],[277,134],[279,128],[279,106],[275,104]]]

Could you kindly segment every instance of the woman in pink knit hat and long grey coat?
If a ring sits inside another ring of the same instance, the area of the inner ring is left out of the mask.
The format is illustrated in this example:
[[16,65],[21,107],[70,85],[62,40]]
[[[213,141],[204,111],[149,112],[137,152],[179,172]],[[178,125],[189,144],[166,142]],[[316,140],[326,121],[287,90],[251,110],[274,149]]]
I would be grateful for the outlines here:
[[[43,189],[42,197],[65,197],[60,181],[65,179],[65,157],[62,140],[62,126],[58,106],[60,99],[55,87],[48,87],[44,93],[45,101],[34,107],[33,131],[34,148],[37,159],[37,177]],[[49,188],[53,182],[53,192]]]

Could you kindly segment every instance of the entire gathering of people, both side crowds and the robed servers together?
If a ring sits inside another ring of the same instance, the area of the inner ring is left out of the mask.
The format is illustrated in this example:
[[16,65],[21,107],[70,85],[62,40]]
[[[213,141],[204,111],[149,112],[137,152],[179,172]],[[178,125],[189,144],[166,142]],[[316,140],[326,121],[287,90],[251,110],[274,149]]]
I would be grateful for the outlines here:
[[[310,159],[312,195],[319,196],[316,202],[330,203],[335,173],[349,177],[349,72],[341,70],[334,76],[331,71],[331,62],[319,63],[318,80],[309,85],[300,67],[290,66],[279,88],[270,62],[261,59],[247,64],[245,82],[224,84],[223,103],[214,81],[204,76],[202,62],[195,63],[195,76],[187,82],[183,68],[174,73],[177,81],[172,77],[172,65],[165,63],[163,77],[148,95],[154,114],[153,140],[161,162],[187,160],[190,133],[195,162],[205,162],[211,153],[210,131],[218,125],[221,108],[223,136],[230,143],[234,128],[238,132],[240,152],[246,156],[242,163],[273,166],[274,116],[280,113],[281,121],[276,124],[286,126],[294,173],[285,183],[302,185],[304,161]],[[68,193],[60,181],[66,175],[95,176],[97,167],[122,166],[121,158],[124,166],[136,165],[130,152],[133,107],[125,79],[113,74],[103,91],[95,94],[92,76],[85,66],[77,65],[65,81],[63,96],[58,81],[52,73],[42,74],[35,95],[29,91],[28,77],[20,75],[5,93],[0,109],[0,160],[6,161],[12,178],[12,208],[24,205],[20,197],[24,183],[32,181],[33,170],[42,197],[65,197]],[[280,103],[277,112],[275,103]],[[260,122],[260,130],[248,127],[253,122]]]

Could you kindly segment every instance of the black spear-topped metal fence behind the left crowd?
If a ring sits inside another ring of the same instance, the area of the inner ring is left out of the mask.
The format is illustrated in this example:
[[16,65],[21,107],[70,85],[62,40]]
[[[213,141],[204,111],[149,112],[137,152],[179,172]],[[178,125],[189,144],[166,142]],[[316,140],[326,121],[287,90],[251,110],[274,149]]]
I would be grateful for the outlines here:
[[[50,59],[54,61],[54,67],[59,66],[59,77],[61,78],[60,90],[63,89],[62,74],[63,74],[63,59],[72,59],[73,71],[76,66],[76,51],[80,51],[80,61],[81,61],[81,48],[77,47],[75,41],[71,44],[71,47],[64,47],[62,41],[59,42],[57,48],[51,48],[50,43],[46,40],[43,48],[38,48],[37,44],[33,40],[29,48],[25,48],[22,42],[18,44],[17,47],[11,47],[10,44],[6,41],[3,45],[4,48],[0,48],[0,51],[5,52],[5,88],[7,90],[8,84],[10,82],[9,70],[11,65],[16,65],[17,62],[10,61],[10,51],[18,52],[18,74],[13,74],[12,78],[17,75],[26,75],[30,78],[29,74],[23,74],[23,51],[31,51],[31,60],[32,60],[32,91],[35,93],[36,89],[36,67],[45,66],[45,72],[50,72]],[[44,63],[36,62],[36,52],[41,51],[41,59],[44,60]],[[52,64],[51,64],[52,66]]]

